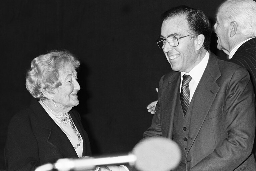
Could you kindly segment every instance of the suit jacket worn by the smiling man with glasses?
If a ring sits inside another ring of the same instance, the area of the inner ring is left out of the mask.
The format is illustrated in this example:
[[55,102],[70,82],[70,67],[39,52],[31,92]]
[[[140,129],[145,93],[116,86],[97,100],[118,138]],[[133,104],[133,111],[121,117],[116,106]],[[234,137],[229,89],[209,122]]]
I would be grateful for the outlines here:
[[[156,113],[151,127],[144,133],[145,138],[172,139],[180,79],[180,72],[176,71],[161,78]],[[219,60],[210,52],[193,100],[187,137],[187,171],[255,171],[252,155],[255,100],[247,70]]]

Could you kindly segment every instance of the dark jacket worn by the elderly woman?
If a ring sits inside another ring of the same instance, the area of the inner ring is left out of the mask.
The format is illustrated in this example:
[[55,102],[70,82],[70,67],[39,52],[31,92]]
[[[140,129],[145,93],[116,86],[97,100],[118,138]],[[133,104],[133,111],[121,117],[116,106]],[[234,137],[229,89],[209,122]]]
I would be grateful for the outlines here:
[[[83,139],[83,156],[90,156],[90,142],[80,115],[75,110],[70,115]],[[29,108],[17,113],[9,123],[5,147],[7,170],[34,170],[60,158],[78,156],[65,133],[33,99]]]

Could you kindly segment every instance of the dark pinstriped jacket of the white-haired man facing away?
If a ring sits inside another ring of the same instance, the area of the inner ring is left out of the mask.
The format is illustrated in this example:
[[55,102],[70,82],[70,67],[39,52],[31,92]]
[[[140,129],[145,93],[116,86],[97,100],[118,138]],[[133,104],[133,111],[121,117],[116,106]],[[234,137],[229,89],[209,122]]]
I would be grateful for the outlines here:
[[242,44],[229,60],[246,68],[250,74],[254,92],[256,92],[256,38]]

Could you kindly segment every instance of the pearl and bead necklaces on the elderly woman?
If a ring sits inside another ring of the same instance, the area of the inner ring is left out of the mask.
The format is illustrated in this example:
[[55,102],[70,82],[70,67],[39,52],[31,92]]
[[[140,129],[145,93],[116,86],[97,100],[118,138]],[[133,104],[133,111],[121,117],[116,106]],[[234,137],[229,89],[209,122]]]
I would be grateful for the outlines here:
[[74,133],[77,135],[77,138],[78,138],[78,144],[74,147],[74,149],[78,148],[81,144],[81,136],[80,136],[78,130],[76,129],[75,124],[72,121],[72,118],[71,118],[69,112],[67,112],[67,113],[57,113],[57,112],[54,112],[44,101],[42,101],[42,103],[47,107],[47,109],[49,109],[49,111],[52,112],[52,114],[55,117],[65,116],[65,118],[62,121],[60,121],[62,124],[66,125],[68,122],[70,122],[70,126],[71,126],[71,128],[73,129]]

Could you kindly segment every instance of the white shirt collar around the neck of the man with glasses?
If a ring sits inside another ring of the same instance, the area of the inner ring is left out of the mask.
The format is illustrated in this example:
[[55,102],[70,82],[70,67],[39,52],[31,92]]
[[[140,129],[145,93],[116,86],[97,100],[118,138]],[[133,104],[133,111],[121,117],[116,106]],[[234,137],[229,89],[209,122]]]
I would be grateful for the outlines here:
[[209,60],[209,52],[206,51],[206,54],[204,55],[203,59],[193,69],[191,69],[190,72],[188,72],[188,73],[181,72],[181,77],[184,74],[186,74],[186,75],[189,74],[194,81],[199,83],[199,81],[200,81],[200,79],[201,79],[201,77],[203,75],[203,72],[204,72],[204,70],[206,68],[206,65],[208,63],[208,60]]

